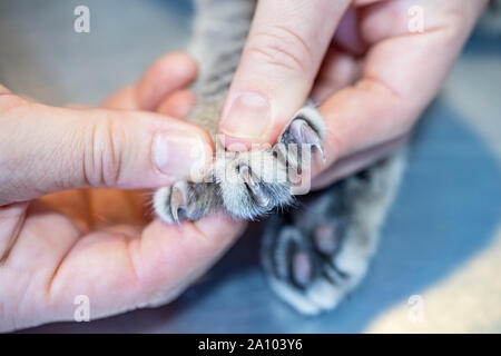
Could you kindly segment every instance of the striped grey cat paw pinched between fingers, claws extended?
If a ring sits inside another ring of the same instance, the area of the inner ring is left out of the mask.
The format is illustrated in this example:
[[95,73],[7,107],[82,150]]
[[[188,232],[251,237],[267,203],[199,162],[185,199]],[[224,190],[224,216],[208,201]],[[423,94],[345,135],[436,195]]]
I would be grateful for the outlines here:
[[[223,151],[204,182],[185,180],[161,188],[154,208],[166,222],[197,220],[218,207],[235,218],[254,220],[294,200],[292,188],[311,164],[312,152],[325,161],[324,121],[313,106],[305,106],[291,120],[269,149]],[[303,177],[304,178],[304,177]],[[205,182],[207,181],[207,182]]]

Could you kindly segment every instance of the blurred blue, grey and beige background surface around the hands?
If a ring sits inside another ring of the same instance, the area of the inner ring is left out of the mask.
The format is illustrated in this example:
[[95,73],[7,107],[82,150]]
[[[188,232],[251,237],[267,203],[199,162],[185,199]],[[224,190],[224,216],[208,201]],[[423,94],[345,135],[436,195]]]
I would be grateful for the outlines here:
[[[90,9],[90,33],[73,31],[79,4]],[[99,105],[184,49],[191,14],[187,0],[0,0],[0,82],[45,103]],[[254,225],[168,306],[26,332],[499,333],[500,116],[501,37],[479,28],[415,132],[366,279],[332,313],[304,317],[273,295]],[[409,317],[414,295],[419,323]]]

